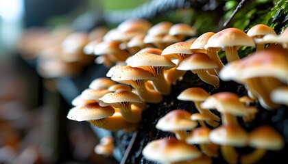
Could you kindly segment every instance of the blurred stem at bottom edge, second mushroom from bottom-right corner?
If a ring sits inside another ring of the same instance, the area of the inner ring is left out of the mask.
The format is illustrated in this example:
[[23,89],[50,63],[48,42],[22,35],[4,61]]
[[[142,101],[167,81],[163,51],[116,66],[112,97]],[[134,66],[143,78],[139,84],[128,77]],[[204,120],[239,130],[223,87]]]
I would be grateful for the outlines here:
[[221,154],[224,160],[230,164],[238,163],[239,154],[232,146],[221,146]]

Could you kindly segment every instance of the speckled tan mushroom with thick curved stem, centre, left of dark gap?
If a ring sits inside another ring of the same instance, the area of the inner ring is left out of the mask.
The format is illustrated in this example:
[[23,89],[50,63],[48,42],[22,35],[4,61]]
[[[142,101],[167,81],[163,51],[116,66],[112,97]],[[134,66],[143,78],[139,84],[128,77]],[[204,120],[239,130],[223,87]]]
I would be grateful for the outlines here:
[[155,90],[149,90],[145,86],[145,82],[156,79],[152,73],[142,68],[132,68],[131,66],[113,66],[108,70],[107,77],[111,77],[113,81],[132,85],[136,93],[145,102],[158,103],[163,100],[162,94]]

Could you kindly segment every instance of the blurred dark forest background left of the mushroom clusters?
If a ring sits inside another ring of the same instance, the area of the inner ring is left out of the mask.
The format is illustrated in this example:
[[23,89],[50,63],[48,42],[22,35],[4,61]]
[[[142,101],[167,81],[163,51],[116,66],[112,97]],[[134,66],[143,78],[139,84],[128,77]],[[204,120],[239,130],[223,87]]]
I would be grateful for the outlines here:
[[[121,4],[130,8],[143,1],[126,2]],[[35,57],[17,47],[27,29],[89,30],[101,19],[93,13],[108,5],[121,7],[115,1],[0,0],[0,163],[117,163],[95,154],[99,139],[91,127],[66,117],[71,99],[63,98],[53,78],[39,75]],[[35,45],[45,40],[35,36]]]

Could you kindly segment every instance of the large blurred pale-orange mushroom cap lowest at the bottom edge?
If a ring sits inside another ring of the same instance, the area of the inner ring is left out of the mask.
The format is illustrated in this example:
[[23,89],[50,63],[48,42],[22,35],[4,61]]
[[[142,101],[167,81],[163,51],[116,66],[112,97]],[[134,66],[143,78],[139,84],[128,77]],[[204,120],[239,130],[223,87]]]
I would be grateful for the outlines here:
[[202,153],[193,145],[176,138],[156,139],[149,142],[142,151],[146,159],[160,163],[189,161],[199,158]]

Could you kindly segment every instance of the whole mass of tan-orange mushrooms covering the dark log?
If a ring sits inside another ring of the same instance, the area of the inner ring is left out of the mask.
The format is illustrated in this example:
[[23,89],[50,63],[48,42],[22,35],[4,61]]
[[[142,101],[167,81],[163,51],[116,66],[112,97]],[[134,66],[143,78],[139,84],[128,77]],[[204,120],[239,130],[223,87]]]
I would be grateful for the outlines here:
[[[160,118],[156,128],[176,137],[151,141],[143,156],[160,163],[212,163],[221,154],[227,163],[256,163],[267,150],[283,149],[283,136],[269,125],[248,133],[237,118],[254,121],[259,112],[254,102],[267,110],[288,106],[287,34],[288,29],[276,34],[267,25],[255,25],[247,33],[230,27],[195,37],[195,29],[184,23],[126,20],[83,47],[109,70],[73,100],[67,118],[108,131],[136,131],[145,105],[162,102],[187,71],[215,90],[220,81],[235,81],[245,86],[247,96],[210,94],[201,87],[183,90],[178,100],[194,102],[199,113],[173,109]],[[256,49],[241,59],[241,46]],[[226,63],[219,51],[224,51]],[[246,146],[254,151],[239,154],[235,149]]]

